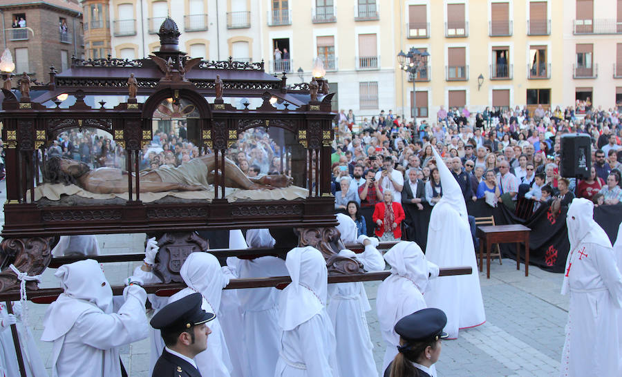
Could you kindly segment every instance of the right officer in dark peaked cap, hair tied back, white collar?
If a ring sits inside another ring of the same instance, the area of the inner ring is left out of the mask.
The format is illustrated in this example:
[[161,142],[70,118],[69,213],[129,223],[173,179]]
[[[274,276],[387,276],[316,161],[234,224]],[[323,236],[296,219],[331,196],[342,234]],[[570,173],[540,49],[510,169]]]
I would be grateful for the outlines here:
[[433,364],[441,351],[441,339],[447,317],[442,310],[427,308],[397,321],[395,332],[399,334],[397,356],[384,371],[384,377],[431,377]]

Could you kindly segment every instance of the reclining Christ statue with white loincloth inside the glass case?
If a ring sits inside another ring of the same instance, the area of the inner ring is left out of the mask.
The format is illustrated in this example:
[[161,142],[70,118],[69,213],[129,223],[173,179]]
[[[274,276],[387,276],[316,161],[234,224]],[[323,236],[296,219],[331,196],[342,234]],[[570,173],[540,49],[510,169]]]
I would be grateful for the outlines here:
[[[214,182],[214,154],[197,157],[178,167],[162,166],[140,171],[140,192],[207,190]],[[84,162],[68,157],[51,157],[44,168],[49,183],[75,184],[91,193],[126,193],[128,172],[118,168],[91,169]],[[132,173],[135,175],[135,173]],[[264,175],[249,178],[231,160],[225,158],[225,186],[235,189],[259,190],[287,187],[293,180],[287,175]],[[133,188],[135,191],[135,188]]]

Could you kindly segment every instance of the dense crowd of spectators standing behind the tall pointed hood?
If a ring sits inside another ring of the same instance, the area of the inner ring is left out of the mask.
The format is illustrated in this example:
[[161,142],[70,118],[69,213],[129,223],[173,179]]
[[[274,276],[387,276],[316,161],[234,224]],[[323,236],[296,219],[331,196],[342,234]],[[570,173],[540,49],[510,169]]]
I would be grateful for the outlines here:
[[[618,204],[622,108],[594,108],[589,99],[576,106],[487,107],[478,113],[466,106],[441,106],[436,122],[417,126],[392,110],[359,122],[351,110],[341,110],[331,156],[335,211],[352,216],[359,234],[390,239],[400,221],[409,222],[408,211],[400,218],[405,206],[421,211],[443,195],[432,148],[452,171],[467,202],[484,200],[511,210],[522,202],[530,211],[555,201],[565,206],[574,197],[596,205]],[[592,139],[591,175],[578,182],[560,176],[560,135],[565,133],[586,133]],[[402,208],[388,206],[386,193]],[[393,222],[385,226],[387,221]]]

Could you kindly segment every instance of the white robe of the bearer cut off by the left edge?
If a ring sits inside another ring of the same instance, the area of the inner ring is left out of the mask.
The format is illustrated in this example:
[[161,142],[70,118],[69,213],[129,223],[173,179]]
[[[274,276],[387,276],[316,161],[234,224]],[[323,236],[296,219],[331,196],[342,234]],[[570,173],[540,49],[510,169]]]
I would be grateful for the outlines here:
[[[13,302],[13,313],[17,317],[17,335],[19,337],[19,347],[23,356],[23,365],[28,377],[48,376],[46,367],[39,355],[39,349],[32,333],[28,327],[24,327],[21,322],[21,303]],[[0,319],[8,318],[6,304],[0,303]],[[2,374],[3,373],[3,374]],[[19,376],[19,364],[17,363],[17,353],[10,327],[0,331],[0,376]]]

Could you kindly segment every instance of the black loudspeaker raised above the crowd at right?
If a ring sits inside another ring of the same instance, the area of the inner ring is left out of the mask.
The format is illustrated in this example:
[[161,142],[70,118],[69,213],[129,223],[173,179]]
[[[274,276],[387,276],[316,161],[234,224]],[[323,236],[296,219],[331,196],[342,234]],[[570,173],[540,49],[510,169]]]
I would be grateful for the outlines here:
[[587,133],[568,133],[560,138],[562,177],[590,177],[592,137]]

